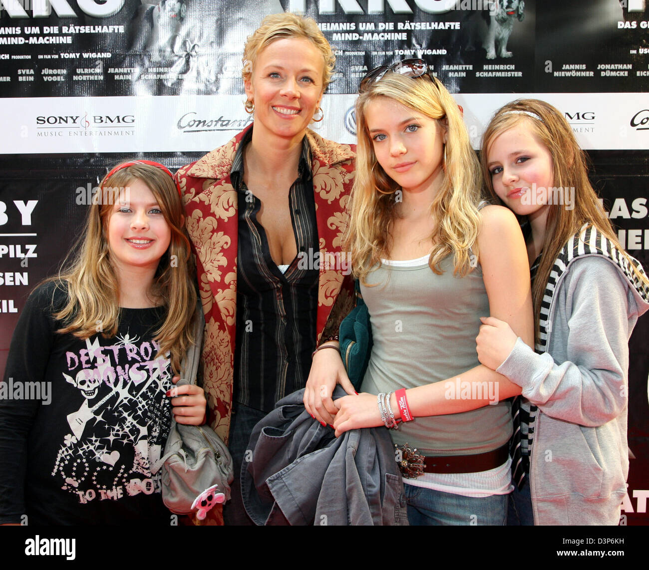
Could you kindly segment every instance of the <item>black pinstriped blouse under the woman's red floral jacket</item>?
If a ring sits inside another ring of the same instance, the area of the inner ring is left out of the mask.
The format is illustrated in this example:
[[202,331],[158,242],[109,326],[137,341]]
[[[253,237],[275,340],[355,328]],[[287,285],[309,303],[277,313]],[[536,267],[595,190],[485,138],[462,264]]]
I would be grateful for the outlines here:
[[285,273],[271,258],[257,221],[262,203],[243,182],[241,141],[230,178],[239,196],[237,324],[234,401],[270,412],[285,395],[304,388],[315,349],[319,251],[309,145],[304,138],[299,173],[289,191],[297,256]]

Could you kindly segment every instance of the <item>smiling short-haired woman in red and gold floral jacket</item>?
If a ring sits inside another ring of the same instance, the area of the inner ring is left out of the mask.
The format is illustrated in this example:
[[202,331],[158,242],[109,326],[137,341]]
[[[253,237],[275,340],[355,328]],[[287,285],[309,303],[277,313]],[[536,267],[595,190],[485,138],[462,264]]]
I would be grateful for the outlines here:
[[313,350],[349,307],[346,264],[315,262],[340,258],[354,168],[352,147],[309,129],[323,119],[334,62],[313,19],[265,18],[243,53],[254,122],[177,174],[206,315],[204,386],[234,459],[228,524],[250,523],[238,475],[252,428],[304,387]]

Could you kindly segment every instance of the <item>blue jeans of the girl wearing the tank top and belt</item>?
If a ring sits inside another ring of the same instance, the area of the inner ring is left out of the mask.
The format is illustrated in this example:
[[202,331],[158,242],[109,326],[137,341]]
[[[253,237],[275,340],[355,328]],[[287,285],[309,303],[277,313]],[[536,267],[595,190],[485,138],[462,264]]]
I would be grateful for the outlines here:
[[411,525],[506,525],[508,495],[465,497],[405,484]]

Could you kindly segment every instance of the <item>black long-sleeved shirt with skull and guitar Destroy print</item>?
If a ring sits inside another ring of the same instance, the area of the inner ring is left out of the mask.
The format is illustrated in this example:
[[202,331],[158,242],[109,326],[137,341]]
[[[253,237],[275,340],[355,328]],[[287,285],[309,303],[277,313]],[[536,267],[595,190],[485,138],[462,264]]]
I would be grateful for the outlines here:
[[[151,465],[171,423],[161,308],[121,309],[114,338],[58,334],[47,283],[20,316],[0,384],[0,523],[169,524]],[[97,328],[101,329],[101,323]]]

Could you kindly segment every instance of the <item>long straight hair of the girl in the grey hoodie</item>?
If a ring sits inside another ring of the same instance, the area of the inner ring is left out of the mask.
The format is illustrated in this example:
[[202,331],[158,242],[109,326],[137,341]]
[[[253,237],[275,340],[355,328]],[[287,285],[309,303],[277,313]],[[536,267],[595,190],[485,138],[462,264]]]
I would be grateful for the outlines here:
[[498,135],[516,125],[526,125],[541,140],[552,156],[552,184],[563,188],[564,193],[574,189],[574,207],[548,208],[543,242],[543,256],[539,262],[536,277],[532,284],[532,301],[534,305],[534,330],[539,332],[539,315],[541,302],[545,294],[550,271],[566,242],[578,233],[584,224],[595,227],[606,236],[627,258],[635,275],[647,282],[646,277],[637,271],[636,264],[622,249],[617,240],[611,222],[600,206],[598,196],[588,179],[588,167],[585,153],[577,143],[568,121],[554,106],[538,99],[518,99],[498,109],[489,122],[482,136],[480,164],[487,192],[498,204],[502,201],[493,189],[493,180],[489,172],[489,149]]

